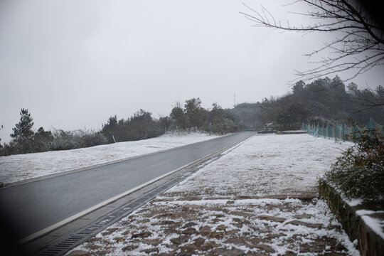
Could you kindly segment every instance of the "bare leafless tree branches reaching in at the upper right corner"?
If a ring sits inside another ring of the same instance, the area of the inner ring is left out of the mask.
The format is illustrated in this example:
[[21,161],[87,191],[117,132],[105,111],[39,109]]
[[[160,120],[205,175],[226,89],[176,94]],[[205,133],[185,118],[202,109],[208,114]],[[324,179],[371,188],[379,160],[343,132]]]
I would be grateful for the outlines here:
[[260,11],[245,5],[250,11],[241,13],[255,23],[255,26],[277,29],[278,31],[298,31],[302,33],[334,33],[334,39],[324,46],[306,53],[312,57],[324,51],[330,51],[326,58],[314,61],[316,68],[297,71],[298,80],[314,80],[325,75],[341,73],[346,70],[355,72],[344,82],[356,78],[371,68],[384,64],[384,30],[373,19],[363,1],[351,0],[297,0],[291,4],[304,3],[306,12],[295,13],[307,16],[314,22],[301,26],[282,25],[265,7]]

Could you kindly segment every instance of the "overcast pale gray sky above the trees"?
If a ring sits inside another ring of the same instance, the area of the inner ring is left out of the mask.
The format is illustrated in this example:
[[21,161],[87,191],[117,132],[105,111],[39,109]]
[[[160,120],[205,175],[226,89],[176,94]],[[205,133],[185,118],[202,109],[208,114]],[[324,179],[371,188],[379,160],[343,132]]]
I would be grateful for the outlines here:
[[[142,108],[157,118],[192,97],[227,108],[234,94],[237,103],[284,95],[294,70],[310,68],[302,54],[327,38],[252,27],[242,2],[303,22],[285,0],[1,0],[1,142],[21,108],[36,130],[100,129],[111,115]],[[353,82],[383,85],[381,71]]]

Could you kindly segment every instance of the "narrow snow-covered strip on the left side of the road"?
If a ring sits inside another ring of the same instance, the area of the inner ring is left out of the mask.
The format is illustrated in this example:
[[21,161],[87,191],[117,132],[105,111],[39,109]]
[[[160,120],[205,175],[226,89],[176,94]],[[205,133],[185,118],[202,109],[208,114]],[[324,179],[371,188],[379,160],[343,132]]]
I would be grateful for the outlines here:
[[201,133],[166,134],[153,139],[119,142],[84,149],[0,156],[0,183],[7,184],[82,169],[216,137],[218,136]]

